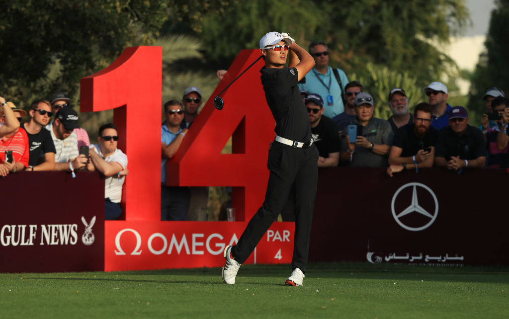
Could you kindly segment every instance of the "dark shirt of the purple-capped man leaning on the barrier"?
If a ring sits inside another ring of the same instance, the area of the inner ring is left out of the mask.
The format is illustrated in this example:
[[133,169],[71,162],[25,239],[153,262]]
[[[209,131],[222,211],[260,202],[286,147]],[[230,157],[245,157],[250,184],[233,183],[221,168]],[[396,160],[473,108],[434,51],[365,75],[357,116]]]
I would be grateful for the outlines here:
[[451,156],[459,156],[464,160],[486,156],[483,132],[468,125],[465,134],[458,136],[450,126],[442,128],[438,134],[435,157],[449,161]]

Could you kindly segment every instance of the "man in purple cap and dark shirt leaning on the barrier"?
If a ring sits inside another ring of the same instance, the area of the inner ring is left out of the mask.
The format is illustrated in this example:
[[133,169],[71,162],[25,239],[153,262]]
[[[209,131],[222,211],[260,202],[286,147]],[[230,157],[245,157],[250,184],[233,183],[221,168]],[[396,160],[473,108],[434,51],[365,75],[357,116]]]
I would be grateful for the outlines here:
[[483,133],[468,125],[463,106],[448,111],[449,125],[439,131],[435,165],[461,172],[463,168],[481,168],[486,162]]

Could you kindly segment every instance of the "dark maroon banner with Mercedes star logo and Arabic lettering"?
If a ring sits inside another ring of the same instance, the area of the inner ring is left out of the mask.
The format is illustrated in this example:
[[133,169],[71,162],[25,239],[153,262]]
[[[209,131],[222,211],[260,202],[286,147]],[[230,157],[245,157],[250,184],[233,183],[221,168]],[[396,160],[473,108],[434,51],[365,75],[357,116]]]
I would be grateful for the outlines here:
[[509,264],[505,170],[320,169],[310,262]]

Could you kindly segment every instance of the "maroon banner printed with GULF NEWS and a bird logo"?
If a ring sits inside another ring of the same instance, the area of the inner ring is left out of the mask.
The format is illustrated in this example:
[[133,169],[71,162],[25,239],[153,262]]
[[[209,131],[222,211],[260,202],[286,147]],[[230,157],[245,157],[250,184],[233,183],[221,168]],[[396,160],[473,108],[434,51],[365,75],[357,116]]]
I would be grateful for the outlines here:
[[104,270],[98,172],[17,172],[0,189],[0,272]]

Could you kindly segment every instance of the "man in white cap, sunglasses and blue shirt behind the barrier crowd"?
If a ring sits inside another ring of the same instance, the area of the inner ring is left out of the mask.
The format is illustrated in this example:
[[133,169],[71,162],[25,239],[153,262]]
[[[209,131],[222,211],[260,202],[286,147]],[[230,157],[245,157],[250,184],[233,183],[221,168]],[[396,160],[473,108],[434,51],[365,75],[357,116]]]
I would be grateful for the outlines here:
[[428,96],[428,102],[433,107],[433,122],[431,125],[440,130],[449,124],[447,112],[450,105],[447,103],[447,86],[442,82],[431,82],[422,91]]

